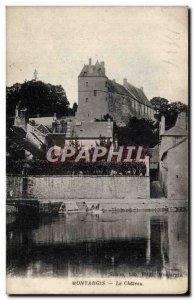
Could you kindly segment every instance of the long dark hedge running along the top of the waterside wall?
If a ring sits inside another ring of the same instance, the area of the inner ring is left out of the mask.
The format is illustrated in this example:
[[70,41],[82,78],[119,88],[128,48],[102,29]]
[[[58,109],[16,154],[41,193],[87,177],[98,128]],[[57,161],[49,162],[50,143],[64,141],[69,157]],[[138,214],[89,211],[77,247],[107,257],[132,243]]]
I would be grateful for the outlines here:
[[145,176],[144,162],[56,162],[7,159],[7,174],[15,175],[127,175]]

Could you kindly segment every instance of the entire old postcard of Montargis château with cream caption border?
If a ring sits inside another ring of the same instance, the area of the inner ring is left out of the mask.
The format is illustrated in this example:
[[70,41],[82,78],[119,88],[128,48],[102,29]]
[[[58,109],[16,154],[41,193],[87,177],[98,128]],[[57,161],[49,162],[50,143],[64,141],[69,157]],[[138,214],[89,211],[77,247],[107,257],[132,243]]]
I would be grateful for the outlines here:
[[188,8],[6,22],[7,293],[187,293]]

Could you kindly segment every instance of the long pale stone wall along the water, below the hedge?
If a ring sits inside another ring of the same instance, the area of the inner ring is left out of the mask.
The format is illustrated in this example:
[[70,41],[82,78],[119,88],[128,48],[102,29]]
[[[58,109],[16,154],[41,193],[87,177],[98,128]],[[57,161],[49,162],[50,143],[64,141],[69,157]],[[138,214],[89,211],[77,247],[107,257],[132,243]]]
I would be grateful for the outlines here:
[[7,197],[127,202],[149,199],[150,183],[148,176],[7,176]]

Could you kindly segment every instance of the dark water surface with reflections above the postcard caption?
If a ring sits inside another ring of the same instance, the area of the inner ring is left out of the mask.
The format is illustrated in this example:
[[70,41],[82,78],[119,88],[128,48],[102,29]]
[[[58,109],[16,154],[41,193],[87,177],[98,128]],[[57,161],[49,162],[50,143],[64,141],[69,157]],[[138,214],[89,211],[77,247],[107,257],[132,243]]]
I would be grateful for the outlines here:
[[20,276],[187,274],[187,214],[105,212],[7,217],[7,273]]

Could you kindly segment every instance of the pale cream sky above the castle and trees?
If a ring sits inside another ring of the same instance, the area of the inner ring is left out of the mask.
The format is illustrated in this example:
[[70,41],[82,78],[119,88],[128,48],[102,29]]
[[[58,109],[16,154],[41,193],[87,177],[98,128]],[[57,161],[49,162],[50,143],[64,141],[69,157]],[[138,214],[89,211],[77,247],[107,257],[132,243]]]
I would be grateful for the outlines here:
[[116,82],[188,103],[187,7],[8,7],[7,86],[38,79],[78,101],[84,64],[105,62]]

